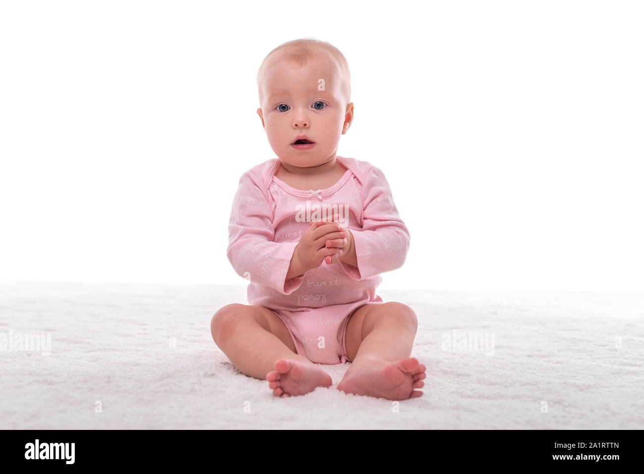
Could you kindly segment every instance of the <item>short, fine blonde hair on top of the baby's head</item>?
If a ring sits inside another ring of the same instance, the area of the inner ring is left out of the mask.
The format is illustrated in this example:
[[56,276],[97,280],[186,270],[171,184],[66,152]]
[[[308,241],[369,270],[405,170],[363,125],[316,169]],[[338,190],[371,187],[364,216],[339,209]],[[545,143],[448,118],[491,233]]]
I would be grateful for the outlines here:
[[328,61],[328,56],[325,53],[320,52],[320,49],[325,50],[330,53],[332,57],[336,60],[337,67],[340,71],[345,74],[345,78],[342,82],[343,91],[346,93],[347,103],[351,99],[351,73],[349,71],[349,63],[346,61],[345,55],[333,46],[333,44],[328,43],[328,41],[321,41],[316,38],[300,38],[294,39],[292,41],[287,41],[286,43],[280,44],[277,48],[274,48],[270,53],[266,55],[264,60],[261,62],[260,69],[257,71],[257,86],[260,88],[260,77],[263,70],[267,67],[268,60],[270,57],[279,54],[279,59],[288,59],[290,61],[296,62],[299,66],[304,66],[307,64],[310,58],[319,59],[321,61]]

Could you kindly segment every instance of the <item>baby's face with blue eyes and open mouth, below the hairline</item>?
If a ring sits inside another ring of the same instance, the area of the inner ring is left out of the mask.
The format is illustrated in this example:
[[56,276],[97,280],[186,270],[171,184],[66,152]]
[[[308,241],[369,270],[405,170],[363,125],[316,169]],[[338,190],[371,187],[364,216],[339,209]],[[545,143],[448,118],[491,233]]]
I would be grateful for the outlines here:
[[[346,103],[338,79],[332,64],[316,60],[298,66],[283,59],[264,71],[257,113],[270,147],[287,164],[312,167],[335,158],[353,119],[353,104]],[[315,145],[294,147],[301,135]]]

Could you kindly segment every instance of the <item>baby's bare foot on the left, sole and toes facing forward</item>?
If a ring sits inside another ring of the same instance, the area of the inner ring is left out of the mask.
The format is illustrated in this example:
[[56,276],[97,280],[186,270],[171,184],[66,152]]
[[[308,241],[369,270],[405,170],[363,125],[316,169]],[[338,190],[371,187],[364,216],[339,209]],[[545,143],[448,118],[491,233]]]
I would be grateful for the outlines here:
[[292,359],[275,361],[275,370],[266,374],[276,397],[304,395],[316,387],[330,387],[331,376],[321,368]]

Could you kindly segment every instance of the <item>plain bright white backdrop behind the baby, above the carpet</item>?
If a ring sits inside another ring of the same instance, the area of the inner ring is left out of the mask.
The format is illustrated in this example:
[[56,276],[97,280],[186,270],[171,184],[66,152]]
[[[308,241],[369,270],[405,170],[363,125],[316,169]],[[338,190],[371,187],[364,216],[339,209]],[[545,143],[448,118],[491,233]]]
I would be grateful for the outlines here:
[[0,3],[0,280],[244,284],[278,44],[348,59],[338,155],[410,229],[381,289],[644,290],[637,1]]

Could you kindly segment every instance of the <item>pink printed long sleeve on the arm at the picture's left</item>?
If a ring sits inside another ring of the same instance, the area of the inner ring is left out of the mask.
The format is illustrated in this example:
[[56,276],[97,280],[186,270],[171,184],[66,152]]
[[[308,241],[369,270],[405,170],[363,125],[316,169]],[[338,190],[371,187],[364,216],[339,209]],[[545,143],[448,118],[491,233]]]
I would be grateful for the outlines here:
[[263,191],[261,176],[247,171],[240,178],[229,222],[228,260],[239,276],[290,294],[304,275],[286,280],[298,242],[273,242],[274,203]]

